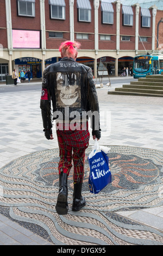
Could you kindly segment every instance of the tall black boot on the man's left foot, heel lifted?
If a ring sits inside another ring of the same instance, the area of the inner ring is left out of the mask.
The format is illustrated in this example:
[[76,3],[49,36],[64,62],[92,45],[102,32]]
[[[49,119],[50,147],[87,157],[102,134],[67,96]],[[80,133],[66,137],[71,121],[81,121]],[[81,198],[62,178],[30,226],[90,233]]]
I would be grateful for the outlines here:
[[67,187],[67,174],[61,172],[59,175],[59,194],[55,209],[59,215],[66,215],[68,212],[68,187]]

